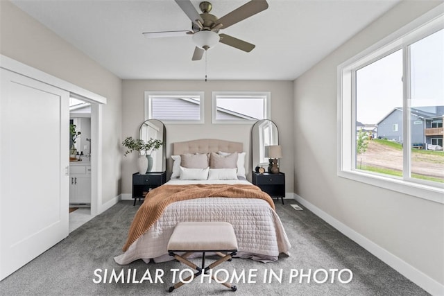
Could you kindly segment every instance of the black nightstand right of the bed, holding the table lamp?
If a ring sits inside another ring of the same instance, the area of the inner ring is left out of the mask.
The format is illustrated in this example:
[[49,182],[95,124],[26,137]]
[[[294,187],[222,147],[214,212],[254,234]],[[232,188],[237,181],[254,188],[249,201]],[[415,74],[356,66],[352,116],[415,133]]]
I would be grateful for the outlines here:
[[253,184],[262,191],[268,193],[272,198],[281,198],[284,204],[285,197],[285,174],[256,173],[253,172]]

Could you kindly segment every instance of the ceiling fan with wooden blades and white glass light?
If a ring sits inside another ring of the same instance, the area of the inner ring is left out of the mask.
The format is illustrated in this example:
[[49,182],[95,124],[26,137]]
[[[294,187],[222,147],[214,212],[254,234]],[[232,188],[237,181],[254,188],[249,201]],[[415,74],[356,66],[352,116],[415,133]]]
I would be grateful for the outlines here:
[[203,53],[219,42],[240,49],[241,51],[252,51],[255,48],[254,44],[230,35],[218,34],[219,30],[228,28],[229,26],[268,8],[266,0],[251,0],[218,19],[216,16],[210,14],[210,11],[212,10],[212,3],[210,2],[203,1],[199,4],[200,10],[202,10],[202,13],[199,14],[190,0],[175,1],[183,12],[185,12],[187,17],[191,19],[191,31],[145,32],[142,34],[148,38],[192,35],[193,41],[196,44],[196,49],[194,49],[193,58],[191,58],[191,60],[201,60]]

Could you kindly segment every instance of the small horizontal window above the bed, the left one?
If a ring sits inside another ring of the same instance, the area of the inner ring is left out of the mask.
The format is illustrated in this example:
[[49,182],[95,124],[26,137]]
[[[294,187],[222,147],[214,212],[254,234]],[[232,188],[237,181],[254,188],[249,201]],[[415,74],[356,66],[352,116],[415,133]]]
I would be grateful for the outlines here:
[[145,92],[145,119],[203,123],[203,92]]

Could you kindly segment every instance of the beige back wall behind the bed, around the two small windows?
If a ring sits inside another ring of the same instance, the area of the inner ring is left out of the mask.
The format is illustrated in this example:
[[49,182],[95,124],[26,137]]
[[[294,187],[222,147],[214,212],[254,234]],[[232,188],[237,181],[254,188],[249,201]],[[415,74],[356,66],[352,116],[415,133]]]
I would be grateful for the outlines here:
[[[123,80],[123,125],[122,138],[137,137],[139,125],[144,121],[145,91],[182,91],[205,92],[205,123],[203,124],[168,124],[167,155],[171,156],[171,143],[191,139],[226,139],[244,143],[247,168],[251,168],[250,130],[251,124],[212,124],[212,92],[251,91],[271,92],[271,119],[278,125],[279,142],[284,158],[281,171],[286,173],[286,191],[293,192],[293,82],[292,81],[203,81],[203,80]],[[137,171],[136,153],[123,159],[122,193],[131,193],[131,175]],[[170,162],[167,162],[171,167]],[[171,175],[171,171],[170,171]],[[247,170],[251,177],[251,169]]]

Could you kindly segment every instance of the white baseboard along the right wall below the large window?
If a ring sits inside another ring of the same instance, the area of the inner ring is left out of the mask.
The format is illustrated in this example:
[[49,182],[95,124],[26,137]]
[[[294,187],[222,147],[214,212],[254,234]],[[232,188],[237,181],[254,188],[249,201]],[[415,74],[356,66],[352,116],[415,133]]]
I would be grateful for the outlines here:
[[424,272],[418,270],[409,263],[403,261],[398,256],[391,254],[391,252],[388,252],[376,243],[373,243],[373,241],[370,241],[368,238],[343,224],[341,221],[336,220],[336,218],[325,213],[325,211],[319,209],[314,204],[307,202],[307,200],[301,198],[296,193],[293,193],[293,198],[304,207],[312,211],[314,214],[316,214],[316,216],[323,219],[328,224],[332,225],[332,227],[339,230],[339,232],[350,238],[352,241],[355,241],[358,245],[361,245],[361,247],[364,247],[364,249],[366,249],[368,252],[377,256],[377,258],[384,261],[384,263],[389,265],[394,270],[400,272],[401,275],[407,277],[407,279],[413,281],[413,283],[417,284],[428,293],[432,295],[444,295],[443,284],[432,279]]

